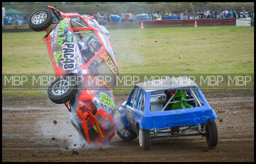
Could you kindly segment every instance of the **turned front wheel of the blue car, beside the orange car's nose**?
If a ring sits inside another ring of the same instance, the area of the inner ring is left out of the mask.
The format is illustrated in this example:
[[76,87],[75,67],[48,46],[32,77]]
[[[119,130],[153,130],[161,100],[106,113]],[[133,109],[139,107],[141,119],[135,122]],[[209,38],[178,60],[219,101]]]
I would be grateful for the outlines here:
[[132,141],[133,139],[135,139],[137,137],[137,134],[132,131],[132,130],[126,130],[124,128],[124,120],[122,118],[122,116],[119,116],[116,119],[116,133],[117,135],[123,139],[124,141]]

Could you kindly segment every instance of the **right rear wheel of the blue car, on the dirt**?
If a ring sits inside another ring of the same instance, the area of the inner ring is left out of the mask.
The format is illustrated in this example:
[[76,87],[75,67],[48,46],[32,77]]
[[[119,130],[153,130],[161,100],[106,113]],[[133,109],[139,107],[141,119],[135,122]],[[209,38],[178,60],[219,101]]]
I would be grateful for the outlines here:
[[218,144],[218,130],[214,121],[207,121],[205,127],[205,137],[209,147],[215,147]]

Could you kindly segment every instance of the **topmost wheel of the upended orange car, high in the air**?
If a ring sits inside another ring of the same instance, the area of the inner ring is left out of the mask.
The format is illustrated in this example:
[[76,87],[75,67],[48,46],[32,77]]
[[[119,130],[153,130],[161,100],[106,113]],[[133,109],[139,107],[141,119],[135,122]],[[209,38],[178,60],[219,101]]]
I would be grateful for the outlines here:
[[51,26],[52,19],[52,14],[48,10],[38,10],[30,16],[28,25],[33,31],[44,31]]

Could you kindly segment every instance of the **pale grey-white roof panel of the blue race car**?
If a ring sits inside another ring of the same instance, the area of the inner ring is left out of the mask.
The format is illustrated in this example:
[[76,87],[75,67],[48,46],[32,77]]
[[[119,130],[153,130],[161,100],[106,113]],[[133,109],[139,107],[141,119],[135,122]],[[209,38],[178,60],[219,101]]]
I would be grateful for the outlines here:
[[186,77],[170,78],[169,76],[166,76],[163,79],[146,81],[138,83],[135,86],[140,87],[145,92],[153,92],[164,89],[197,87],[197,84],[193,80]]

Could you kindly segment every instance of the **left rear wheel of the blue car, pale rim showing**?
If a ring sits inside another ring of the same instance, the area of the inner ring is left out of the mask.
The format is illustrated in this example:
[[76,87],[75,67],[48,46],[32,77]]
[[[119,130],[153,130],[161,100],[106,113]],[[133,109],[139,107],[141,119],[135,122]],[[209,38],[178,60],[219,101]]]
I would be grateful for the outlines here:
[[140,126],[139,126],[139,144],[143,150],[150,150],[150,147],[151,147],[150,131],[146,129],[140,129]]

